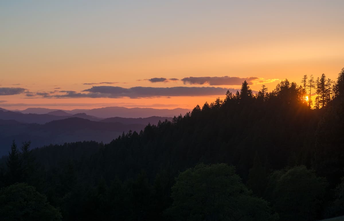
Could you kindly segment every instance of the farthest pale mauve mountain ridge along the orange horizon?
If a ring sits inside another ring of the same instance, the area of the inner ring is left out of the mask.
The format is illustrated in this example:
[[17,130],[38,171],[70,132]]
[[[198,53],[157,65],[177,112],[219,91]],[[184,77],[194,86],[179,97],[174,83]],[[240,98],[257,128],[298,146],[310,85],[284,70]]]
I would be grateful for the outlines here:
[[147,118],[151,116],[159,117],[174,117],[179,114],[184,115],[189,112],[189,109],[175,108],[175,109],[154,109],[154,108],[125,108],[125,107],[105,107],[95,109],[74,109],[74,110],[60,110],[48,108],[28,108],[25,110],[14,110],[21,113],[35,113],[35,114],[62,114],[61,111],[69,114],[86,113],[98,118]]

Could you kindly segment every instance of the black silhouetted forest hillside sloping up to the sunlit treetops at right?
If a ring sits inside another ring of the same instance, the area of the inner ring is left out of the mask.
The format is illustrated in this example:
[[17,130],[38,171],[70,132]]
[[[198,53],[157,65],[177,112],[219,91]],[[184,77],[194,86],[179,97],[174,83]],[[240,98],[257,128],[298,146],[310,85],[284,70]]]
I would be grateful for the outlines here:
[[304,76],[267,91],[253,95],[245,81],[225,100],[108,144],[13,142],[1,159],[0,219],[344,215],[344,69],[336,82]]

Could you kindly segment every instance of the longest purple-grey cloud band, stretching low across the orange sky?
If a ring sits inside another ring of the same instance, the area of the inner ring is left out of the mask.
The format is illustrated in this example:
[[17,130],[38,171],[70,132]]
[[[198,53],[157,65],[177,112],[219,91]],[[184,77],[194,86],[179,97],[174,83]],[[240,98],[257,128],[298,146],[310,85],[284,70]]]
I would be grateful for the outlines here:
[[[225,95],[228,88],[221,87],[132,87],[122,88],[114,86],[93,86],[92,88],[76,91],[60,91],[64,95],[46,95],[43,97],[52,98],[150,98],[150,97],[172,97],[172,96],[209,96]],[[229,91],[235,92],[236,89],[229,88]],[[87,92],[87,93],[82,93]],[[38,95],[38,94],[37,94]]]

